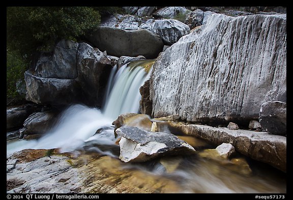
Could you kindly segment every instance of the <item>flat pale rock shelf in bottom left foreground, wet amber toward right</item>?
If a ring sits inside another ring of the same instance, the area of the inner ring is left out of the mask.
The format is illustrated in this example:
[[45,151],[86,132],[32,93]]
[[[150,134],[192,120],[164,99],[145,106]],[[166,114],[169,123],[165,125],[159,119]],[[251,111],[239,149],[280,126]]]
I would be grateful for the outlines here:
[[[7,157],[7,193],[181,193],[168,178],[97,154],[23,150]],[[121,184],[123,183],[123,184]]]

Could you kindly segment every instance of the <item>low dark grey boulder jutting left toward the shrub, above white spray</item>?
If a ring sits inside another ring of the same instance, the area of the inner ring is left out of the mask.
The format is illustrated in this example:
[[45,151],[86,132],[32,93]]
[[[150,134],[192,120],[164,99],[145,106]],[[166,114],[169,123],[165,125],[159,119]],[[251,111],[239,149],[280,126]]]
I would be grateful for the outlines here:
[[81,98],[79,84],[74,79],[43,78],[24,73],[27,101],[37,104],[64,105],[78,102]]

